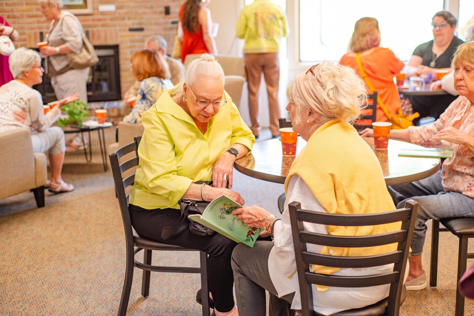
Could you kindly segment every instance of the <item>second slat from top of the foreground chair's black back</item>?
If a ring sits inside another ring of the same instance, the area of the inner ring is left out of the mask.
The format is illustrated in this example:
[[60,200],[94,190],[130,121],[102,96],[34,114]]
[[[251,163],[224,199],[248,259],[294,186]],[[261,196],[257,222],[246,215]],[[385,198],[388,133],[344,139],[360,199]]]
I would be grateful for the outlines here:
[[406,232],[403,230],[368,236],[335,236],[301,231],[300,240],[303,243],[315,245],[356,248],[381,246],[401,242],[405,239],[405,235]]

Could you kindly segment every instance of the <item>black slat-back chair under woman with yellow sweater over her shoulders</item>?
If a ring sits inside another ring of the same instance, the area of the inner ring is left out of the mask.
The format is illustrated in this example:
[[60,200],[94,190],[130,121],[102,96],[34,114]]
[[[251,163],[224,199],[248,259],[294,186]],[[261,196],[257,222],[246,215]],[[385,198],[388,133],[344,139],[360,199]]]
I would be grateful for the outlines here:
[[[333,316],[398,316],[405,292],[403,277],[408,259],[413,227],[415,225],[418,202],[413,200],[405,203],[405,208],[372,214],[329,214],[316,211],[301,210],[299,202],[291,202],[290,220],[292,225],[293,244],[295,247],[296,267],[301,291],[301,315],[320,316],[313,307],[313,284],[360,288],[390,284],[388,298],[366,307],[349,309]],[[335,226],[381,225],[401,221],[399,230],[370,236],[332,236],[305,231],[303,222]],[[398,243],[397,250],[387,254],[364,257],[341,257],[321,255],[307,250],[306,244],[332,247],[369,247]],[[339,276],[310,272],[309,264],[319,264],[340,268],[365,268],[394,263],[393,271],[381,274],[361,276]]]

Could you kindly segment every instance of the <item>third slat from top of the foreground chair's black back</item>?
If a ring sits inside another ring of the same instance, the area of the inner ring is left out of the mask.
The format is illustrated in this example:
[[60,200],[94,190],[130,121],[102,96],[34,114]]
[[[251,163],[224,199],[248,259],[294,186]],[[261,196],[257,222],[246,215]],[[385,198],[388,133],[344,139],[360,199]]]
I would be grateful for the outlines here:
[[331,266],[339,268],[367,268],[379,265],[400,262],[403,252],[392,251],[382,255],[368,255],[363,257],[341,257],[335,255],[321,255],[308,251],[303,252],[303,261],[310,264]]

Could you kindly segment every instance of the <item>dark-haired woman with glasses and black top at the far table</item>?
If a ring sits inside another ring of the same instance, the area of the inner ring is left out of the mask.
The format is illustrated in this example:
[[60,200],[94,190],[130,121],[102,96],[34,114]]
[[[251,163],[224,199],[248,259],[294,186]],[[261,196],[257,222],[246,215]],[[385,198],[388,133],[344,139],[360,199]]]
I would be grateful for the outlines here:
[[[407,77],[431,73],[436,79],[437,70],[447,70],[447,72],[451,70],[453,54],[457,46],[464,43],[454,36],[456,22],[456,18],[448,11],[439,11],[433,16],[431,20],[433,39],[415,48],[408,61]],[[451,95],[411,97],[413,112],[419,113],[419,118],[413,120],[413,123],[418,125],[419,119],[426,116],[438,119],[455,99],[456,96]]]

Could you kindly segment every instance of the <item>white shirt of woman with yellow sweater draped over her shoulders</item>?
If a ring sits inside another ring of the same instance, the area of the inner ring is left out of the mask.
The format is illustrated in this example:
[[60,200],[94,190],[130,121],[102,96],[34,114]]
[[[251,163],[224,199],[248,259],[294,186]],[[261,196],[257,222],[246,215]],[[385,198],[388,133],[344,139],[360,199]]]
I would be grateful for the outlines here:
[[[288,194],[282,214],[282,220],[278,220],[274,226],[274,246],[268,257],[268,270],[273,285],[278,292],[278,297],[295,292],[292,302],[293,309],[301,309],[300,288],[298,285],[298,274],[296,273],[296,261],[292,239],[292,229],[290,223],[290,213],[288,211],[289,202],[300,202],[301,208],[311,211],[325,212],[319,204],[310,188],[304,183],[301,177],[294,175],[288,183]],[[304,228],[308,231],[328,234],[326,225],[304,223]],[[308,250],[320,253],[322,246],[308,245]],[[341,268],[333,275],[364,275],[390,272],[393,264],[369,268]],[[405,273],[405,280],[408,275],[408,267]],[[291,276],[291,277],[290,277]],[[359,308],[378,302],[388,296],[389,285],[380,285],[365,288],[338,288],[329,287],[328,290],[319,292],[313,286],[314,310],[323,315],[331,315],[346,309]]]

